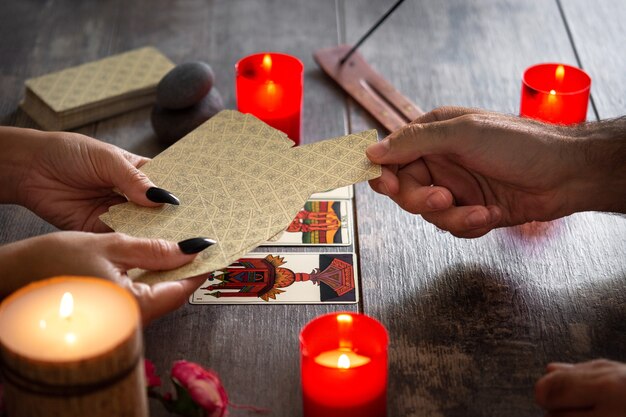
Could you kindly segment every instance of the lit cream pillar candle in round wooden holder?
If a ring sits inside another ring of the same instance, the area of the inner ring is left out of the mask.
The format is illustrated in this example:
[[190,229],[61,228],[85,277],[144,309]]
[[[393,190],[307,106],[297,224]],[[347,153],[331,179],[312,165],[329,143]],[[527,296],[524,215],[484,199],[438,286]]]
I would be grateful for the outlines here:
[[[0,305],[11,416],[147,416],[140,312],[98,278],[30,284]],[[104,406],[103,406],[104,404]]]

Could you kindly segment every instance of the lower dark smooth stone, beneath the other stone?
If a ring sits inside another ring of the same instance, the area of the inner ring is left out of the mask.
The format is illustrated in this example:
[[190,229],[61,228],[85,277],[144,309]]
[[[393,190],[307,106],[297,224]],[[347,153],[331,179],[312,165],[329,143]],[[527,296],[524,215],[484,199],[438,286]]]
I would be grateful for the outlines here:
[[195,106],[186,109],[171,110],[155,104],[150,120],[159,142],[169,146],[221,110],[224,110],[222,96],[213,88]]

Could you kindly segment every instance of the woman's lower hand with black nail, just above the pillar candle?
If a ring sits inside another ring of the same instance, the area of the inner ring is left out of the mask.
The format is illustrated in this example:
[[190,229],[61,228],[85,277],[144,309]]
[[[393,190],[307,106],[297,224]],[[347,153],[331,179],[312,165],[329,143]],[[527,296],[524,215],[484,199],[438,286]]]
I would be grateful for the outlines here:
[[132,281],[133,268],[167,270],[195,258],[213,241],[189,239],[178,244],[134,238],[121,233],[57,232],[0,247],[0,294],[30,281],[58,275],[100,277],[129,289],[137,298],[144,323],[182,305],[204,282],[204,276],[155,285]]

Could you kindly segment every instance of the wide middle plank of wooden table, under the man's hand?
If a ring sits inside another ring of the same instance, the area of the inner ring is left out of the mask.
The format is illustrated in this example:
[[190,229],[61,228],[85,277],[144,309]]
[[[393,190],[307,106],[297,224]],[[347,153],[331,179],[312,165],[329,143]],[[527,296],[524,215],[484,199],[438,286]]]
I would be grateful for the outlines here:
[[[346,1],[342,42],[391,3]],[[576,62],[545,1],[407,2],[361,53],[424,109],[508,113],[524,68]],[[352,108],[352,129],[376,126]],[[389,415],[536,416],[549,361],[626,359],[625,218],[585,213],[463,240],[366,185],[356,203],[364,311],[390,331]]]

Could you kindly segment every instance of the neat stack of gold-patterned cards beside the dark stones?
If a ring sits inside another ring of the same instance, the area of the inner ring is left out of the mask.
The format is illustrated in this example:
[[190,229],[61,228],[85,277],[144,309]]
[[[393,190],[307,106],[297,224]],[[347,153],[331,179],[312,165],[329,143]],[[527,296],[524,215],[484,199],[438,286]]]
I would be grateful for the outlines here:
[[22,109],[46,130],[65,130],[154,103],[174,63],[153,47],[26,80]]

